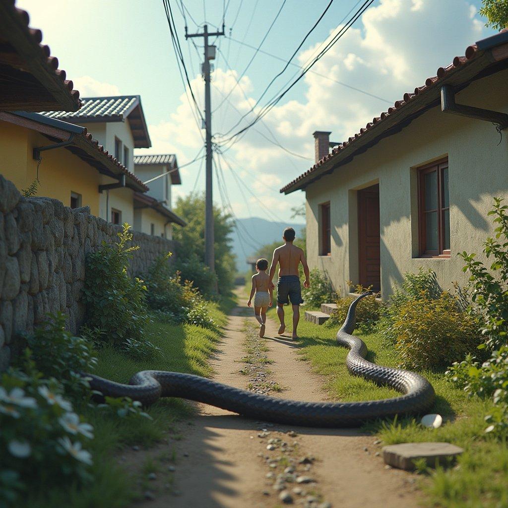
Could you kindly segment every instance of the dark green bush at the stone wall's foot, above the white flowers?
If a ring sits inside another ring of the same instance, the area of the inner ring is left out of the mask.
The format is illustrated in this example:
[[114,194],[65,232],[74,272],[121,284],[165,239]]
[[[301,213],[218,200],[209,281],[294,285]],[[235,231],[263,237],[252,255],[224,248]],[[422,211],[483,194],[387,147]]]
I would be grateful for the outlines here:
[[48,314],[34,333],[25,334],[25,339],[30,348],[27,355],[44,377],[57,378],[66,395],[73,399],[88,394],[88,382],[79,372],[92,371],[97,365],[97,355],[90,341],[65,330],[62,312]]

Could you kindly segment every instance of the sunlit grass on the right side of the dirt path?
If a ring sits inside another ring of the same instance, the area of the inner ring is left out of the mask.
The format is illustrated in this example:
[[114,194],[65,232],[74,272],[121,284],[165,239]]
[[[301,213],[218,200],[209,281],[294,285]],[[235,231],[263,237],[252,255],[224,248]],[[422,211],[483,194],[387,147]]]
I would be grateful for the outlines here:
[[[272,314],[273,315],[273,314]],[[291,330],[292,312],[286,312],[285,323]],[[345,366],[347,350],[335,345],[336,330],[303,320],[298,328],[302,360],[324,376],[325,388],[332,398],[343,401],[376,400],[397,395],[390,388],[378,387],[352,376]],[[396,367],[397,354],[379,335],[362,335],[367,344],[369,361]],[[492,408],[490,400],[469,397],[444,378],[443,372],[420,372],[436,392],[429,412],[444,420],[438,429],[427,429],[414,418],[376,421],[364,430],[376,434],[383,444],[414,441],[447,441],[464,448],[457,465],[428,469],[422,483],[426,506],[440,508],[506,508],[508,507],[508,447],[506,439],[485,434],[485,415]]]

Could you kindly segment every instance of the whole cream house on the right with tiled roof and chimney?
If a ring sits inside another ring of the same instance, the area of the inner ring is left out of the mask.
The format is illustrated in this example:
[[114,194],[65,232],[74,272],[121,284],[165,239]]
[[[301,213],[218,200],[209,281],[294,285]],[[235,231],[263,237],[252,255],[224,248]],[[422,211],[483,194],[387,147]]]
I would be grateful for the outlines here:
[[405,272],[433,270],[443,289],[466,283],[459,252],[494,236],[493,198],[508,198],[508,33],[469,46],[330,153],[314,133],[303,190],[307,259],[342,294],[346,281],[383,297]]

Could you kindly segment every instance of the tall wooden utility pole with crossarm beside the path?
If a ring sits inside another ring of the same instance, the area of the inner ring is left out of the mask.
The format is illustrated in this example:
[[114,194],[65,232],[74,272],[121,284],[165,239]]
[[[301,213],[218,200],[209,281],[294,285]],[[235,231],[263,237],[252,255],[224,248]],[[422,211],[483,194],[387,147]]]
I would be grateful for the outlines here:
[[208,37],[224,35],[222,31],[209,32],[208,25],[203,26],[203,32],[187,34],[185,27],[185,39],[203,37],[204,61],[203,77],[205,79],[205,129],[206,129],[206,192],[205,192],[205,263],[210,270],[215,271],[214,233],[213,233],[213,193],[212,193],[212,108],[210,98],[210,60],[215,59],[215,46],[208,45]]

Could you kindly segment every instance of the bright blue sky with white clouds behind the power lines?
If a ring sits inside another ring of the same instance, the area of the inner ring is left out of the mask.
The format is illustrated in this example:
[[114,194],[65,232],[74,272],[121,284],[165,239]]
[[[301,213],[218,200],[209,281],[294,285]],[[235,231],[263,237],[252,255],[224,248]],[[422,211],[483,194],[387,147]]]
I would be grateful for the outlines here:
[[[185,40],[181,5],[183,12],[187,10],[189,33],[201,31],[205,21],[209,30],[220,28],[228,5],[226,37],[210,40],[217,46],[211,100],[213,141],[219,146],[298,76],[298,67],[289,66],[256,105],[328,4],[329,0],[170,0],[201,109],[202,39],[193,40],[196,46]],[[302,66],[317,54],[356,4],[357,0],[334,0],[293,62]],[[137,154],[175,153],[182,166],[203,150],[204,130],[193,116],[178,73],[162,0],[18,0],[17,6],[30,14],[30,26],[42,29],[43,43],[82,97],[141,96],[152,147]],[[235,143],[219,148],[224,155],[214,169],[214,201],[237,217],[292,220],[292,208],[304,202],[304,193],[284,196],[279,188],[312,166],[312,133],[331,131],[332,141],[346,140],[404,92],[434,76],[438,67],[463,55],[468,45],[492,35],[479,8],[480,0],[375,0],[261,121],[234,138]],[[245,46],[256,48],[263,38],[257,54]],[[202,162],[180,170],[182,185],[173,187],[174,201],[204,190]]]

